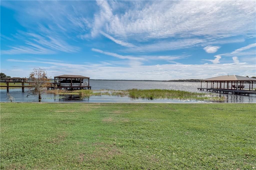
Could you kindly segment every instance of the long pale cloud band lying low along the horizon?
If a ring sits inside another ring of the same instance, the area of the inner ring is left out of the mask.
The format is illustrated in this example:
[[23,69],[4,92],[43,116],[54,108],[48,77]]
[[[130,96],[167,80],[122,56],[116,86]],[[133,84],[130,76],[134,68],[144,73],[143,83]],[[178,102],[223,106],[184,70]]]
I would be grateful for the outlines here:
[[[249,77],[255,76],[255,64],[238,63],[238,64],[159,64],[159,65],[140,65],[139,63],[123,66],[117,65],[104,65],[98,64],[95,66],[70,64],[61,62],[42,62],[39,60],[15,60],[8,59],[12,65],[19,64],[20,62],[30,62],[33,66],[22,68],[13,75],[13,70],[16,68],[9,68],[4,70],[10,76],[25,77],[33,70],[37,63],[46,64],[45,69],[49,76],[66,74],[79,74],[88,76],[92,79],[136,79],[136,80],[170,80],[170,79],[204,79],[214,76],[221,76],[229,72],[230,75],[244,74]],[[131,60],[132,61],[132,60]],[[110,62],[111,63],[111,62]],[[64,68],[64,69],[63,69]],[[160,69],[161,68],[161,69]],[[200,69],[201,74],[198,73]],[[167,76],[169,75],[169,76]]]

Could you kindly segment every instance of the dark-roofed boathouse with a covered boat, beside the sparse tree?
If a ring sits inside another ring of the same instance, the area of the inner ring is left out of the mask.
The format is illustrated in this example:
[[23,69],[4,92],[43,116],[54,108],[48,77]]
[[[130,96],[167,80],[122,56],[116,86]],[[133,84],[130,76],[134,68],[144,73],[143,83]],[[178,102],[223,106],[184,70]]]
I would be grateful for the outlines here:
[[[88,81],[85,81],[85,80]],[[88,88],[91,89],[90,86],[90,77],[80,76],[80,75],[60,75],[54,77],[54,88]]]

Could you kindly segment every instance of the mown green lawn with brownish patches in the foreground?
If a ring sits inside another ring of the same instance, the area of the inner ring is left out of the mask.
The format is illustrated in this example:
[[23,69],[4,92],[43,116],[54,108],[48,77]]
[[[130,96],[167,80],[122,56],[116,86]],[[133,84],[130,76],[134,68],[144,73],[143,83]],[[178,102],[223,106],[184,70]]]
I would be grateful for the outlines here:
[[255,108],[1,103],[1,169],[255,169]]

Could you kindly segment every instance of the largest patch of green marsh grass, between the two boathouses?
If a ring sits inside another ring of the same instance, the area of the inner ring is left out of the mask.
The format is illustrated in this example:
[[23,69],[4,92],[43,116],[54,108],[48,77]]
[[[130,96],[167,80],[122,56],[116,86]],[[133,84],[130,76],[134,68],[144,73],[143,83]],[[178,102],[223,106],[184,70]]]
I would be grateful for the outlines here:
[[129,97],[142,99],[210,99],[205,93],[165,89],[129,89]]

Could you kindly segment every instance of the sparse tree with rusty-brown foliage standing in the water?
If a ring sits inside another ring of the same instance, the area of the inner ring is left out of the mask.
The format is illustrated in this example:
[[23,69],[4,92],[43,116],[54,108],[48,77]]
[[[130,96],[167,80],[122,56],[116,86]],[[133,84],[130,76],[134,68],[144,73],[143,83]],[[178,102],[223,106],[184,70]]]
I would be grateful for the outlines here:
[[29,79],[32,87],[29,88],[28,95],[38,95],[40,101],[41,95],[45,93],[46,87],[49,85],[47,72],[41,68],[34,68],[33,72],[29,74]]

